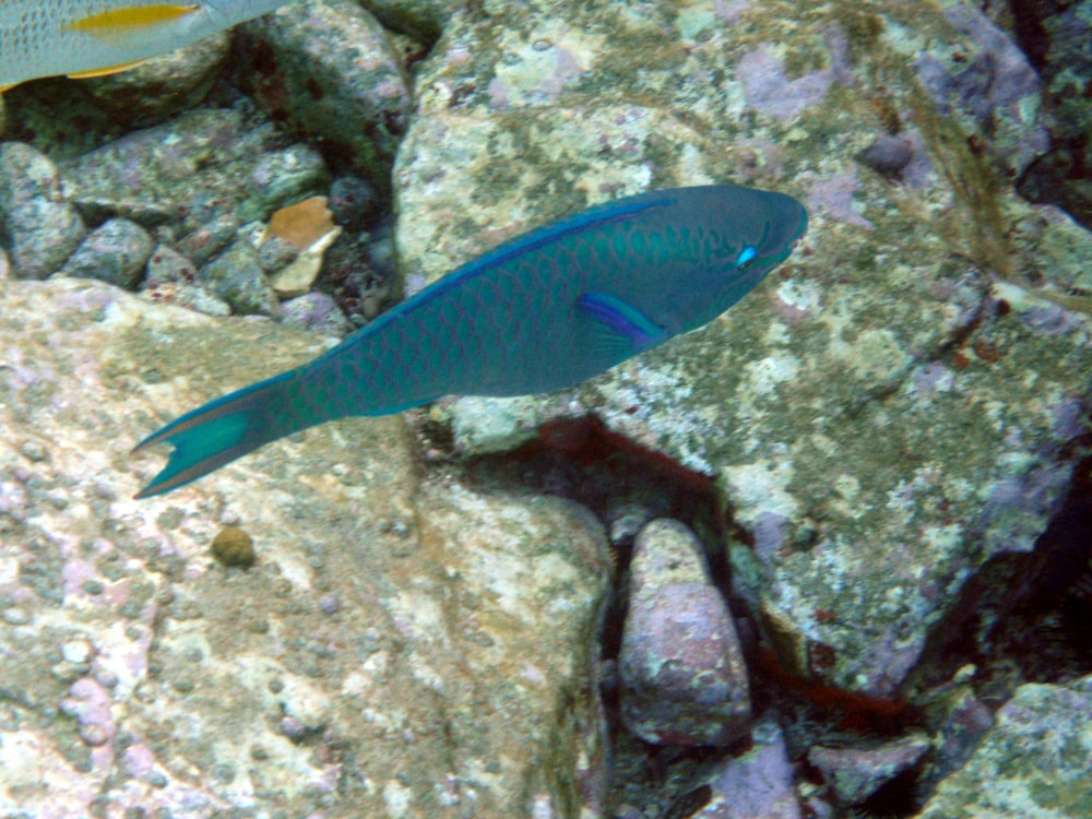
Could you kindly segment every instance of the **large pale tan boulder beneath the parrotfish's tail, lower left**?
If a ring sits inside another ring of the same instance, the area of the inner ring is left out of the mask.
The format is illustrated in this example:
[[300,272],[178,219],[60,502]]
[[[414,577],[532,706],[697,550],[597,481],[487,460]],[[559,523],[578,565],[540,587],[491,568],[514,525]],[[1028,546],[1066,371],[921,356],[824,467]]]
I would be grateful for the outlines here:
[[[88,280],[0,282],[0,812],[593,814],[602,527],[423,474],[399,417],[130,500],[129,450],[321,352]],[[210,554],[226,525],[256,563]],[[543,812],[545,811],[545,812]]]

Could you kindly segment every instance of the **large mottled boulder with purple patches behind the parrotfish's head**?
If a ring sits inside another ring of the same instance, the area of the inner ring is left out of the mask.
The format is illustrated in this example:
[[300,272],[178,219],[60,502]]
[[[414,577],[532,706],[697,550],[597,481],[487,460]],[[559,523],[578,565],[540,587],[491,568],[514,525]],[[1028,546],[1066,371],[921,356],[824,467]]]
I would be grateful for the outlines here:
[[[783,666],[878,697],[982,561],[1043,531],[1092,393],[1089,318],[1066,307],[1092,238],[1011,193],[1040,132],[1031,81],[996,28],[954,8],[456,15],[418,69],[395,168],[411,292],[648,187],[733,181],[806,202],[802,247],[703,331],[563,394],[443,412],[464,452],[591,412],[715,476],[753,539],[732,556],[738,591]],[[990,97],[964,58],[1004,70],[1008,91]],[[1007,124],[987,132],[995,118]],[[906,146],[893,181],[857,159],[892,134]]]

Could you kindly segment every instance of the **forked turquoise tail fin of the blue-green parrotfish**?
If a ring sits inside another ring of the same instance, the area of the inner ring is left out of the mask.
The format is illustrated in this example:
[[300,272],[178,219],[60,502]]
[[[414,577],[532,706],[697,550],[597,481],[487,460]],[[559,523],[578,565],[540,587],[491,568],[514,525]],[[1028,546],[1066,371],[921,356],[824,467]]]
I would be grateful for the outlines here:
[[134,497],[177,489],[259,447],[292,432],[330,420],[316,404],[304,400],[300,370],[289,370],[187,413],[153,432],[133,452],[170,443],[167,465]]

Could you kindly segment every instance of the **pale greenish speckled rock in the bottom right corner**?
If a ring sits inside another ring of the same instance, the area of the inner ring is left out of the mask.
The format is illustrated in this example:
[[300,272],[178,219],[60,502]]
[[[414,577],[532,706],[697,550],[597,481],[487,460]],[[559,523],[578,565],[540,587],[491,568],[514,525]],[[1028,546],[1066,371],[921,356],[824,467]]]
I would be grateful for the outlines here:
[[1090,715],[1092,677],[1021,686],[966,765],[940,783],[922,819],[1092,816]]

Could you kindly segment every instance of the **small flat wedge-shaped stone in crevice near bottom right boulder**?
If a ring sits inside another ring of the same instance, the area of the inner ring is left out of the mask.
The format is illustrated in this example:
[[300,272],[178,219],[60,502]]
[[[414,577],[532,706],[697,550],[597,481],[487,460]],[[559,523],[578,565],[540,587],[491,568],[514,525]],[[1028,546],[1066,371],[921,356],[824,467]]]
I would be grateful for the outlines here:
[[924,734],[913,734],[870,748],[828,748],[815,745],[808,762],[819,769],[834,799],[855,805],[917,764],[931,748]]

